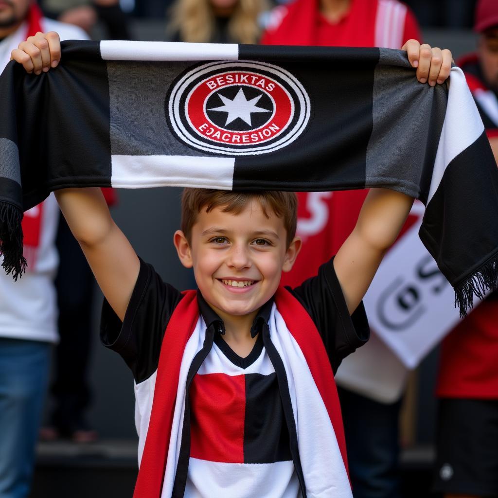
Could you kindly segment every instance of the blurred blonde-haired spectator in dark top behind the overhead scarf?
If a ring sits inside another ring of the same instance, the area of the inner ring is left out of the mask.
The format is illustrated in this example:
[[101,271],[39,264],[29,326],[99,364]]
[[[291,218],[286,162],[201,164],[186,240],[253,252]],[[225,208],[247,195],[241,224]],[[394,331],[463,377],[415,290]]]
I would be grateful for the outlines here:
[[174,41],[256,43],[266,0],[176,0],[168,32]]

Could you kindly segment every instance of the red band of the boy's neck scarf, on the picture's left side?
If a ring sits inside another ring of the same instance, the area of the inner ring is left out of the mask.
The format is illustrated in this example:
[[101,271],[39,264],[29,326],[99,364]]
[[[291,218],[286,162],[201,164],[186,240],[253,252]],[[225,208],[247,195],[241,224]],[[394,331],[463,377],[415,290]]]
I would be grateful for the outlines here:
[[157,367],[152,412],[133,498],[159,498],[161,496],[180,367],[185,347],[199,318],[197,292],[188,290],[184,294],[164,334]]

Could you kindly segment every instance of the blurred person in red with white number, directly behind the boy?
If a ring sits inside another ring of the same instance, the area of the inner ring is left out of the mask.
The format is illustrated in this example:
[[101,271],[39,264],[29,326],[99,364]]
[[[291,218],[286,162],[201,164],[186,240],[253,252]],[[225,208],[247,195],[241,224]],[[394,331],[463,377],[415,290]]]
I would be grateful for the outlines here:
[[[399,49],[411,38],[420,40],[419,26],[410,9],[396,0],[296,0],[272,11],[261,43]],[[366,190],[298,193],[302,257],[283,284],[315,275],[337,252],[366,195]]]

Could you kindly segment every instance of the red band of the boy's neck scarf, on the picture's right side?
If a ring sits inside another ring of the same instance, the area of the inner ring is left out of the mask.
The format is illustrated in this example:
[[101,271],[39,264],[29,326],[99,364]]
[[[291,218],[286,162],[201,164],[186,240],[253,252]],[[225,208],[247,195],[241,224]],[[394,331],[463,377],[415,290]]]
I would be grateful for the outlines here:
[[292,324],[292,329],[289,327],[289,332],[296,340],[299,348],[301,348],[308,368],[313,375],[318,392],[320,392],[320,396],[327,408],[327,413],[329,414],[337,443],[341,450],[344,467],[346,467],[349,475],[341,405],[339,404],[334,373],[332,372],[322,338],[313,320],[306,313],[306,310],[285,288],[278,288],[275,294],[275,303],[285,323]]

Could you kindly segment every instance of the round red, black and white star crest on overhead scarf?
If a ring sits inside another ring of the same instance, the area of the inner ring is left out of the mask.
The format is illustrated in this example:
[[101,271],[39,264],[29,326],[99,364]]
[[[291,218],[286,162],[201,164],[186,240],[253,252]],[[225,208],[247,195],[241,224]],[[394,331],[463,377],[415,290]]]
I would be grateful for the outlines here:
[[166,117],[173,133],[196,149],[263,154],[303,132],[310,101],[301,83],[278,66],[211,62],[176,80],[166,98]]

